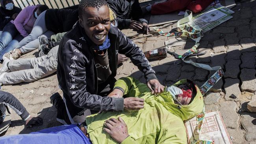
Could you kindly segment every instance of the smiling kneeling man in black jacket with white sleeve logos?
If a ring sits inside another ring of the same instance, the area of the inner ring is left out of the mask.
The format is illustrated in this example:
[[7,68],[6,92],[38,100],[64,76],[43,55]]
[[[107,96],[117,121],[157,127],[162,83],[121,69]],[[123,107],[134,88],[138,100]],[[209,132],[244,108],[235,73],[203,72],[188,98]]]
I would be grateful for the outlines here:
[[79,122],[77,116],[83,115],[86,109],[123,111],[144,107],[141,98],[106,97],[116,81],[118,53],[125,54],[138,66],[152,93],[164,90],[141,49],[111,24],[107,2],[82,0],[79,22],[59,44],[57,76],[63,91],[64,110],[60,108],[59,95],[51,98],[58,109],[59,122]]

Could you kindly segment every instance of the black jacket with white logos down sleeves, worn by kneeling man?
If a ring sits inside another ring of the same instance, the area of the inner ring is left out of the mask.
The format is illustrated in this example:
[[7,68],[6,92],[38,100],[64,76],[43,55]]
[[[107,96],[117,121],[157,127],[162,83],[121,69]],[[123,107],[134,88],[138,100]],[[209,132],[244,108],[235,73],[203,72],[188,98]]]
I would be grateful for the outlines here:
[[[108,37],[110,40],[108,58],[111,75],[107,79],[107,83],[113,83],[117,74],[118,53],[130,57],[132,63],[144,73],[147,81],[156,79],[155,72],[141,49],[118,28],[111,26]],[[78,23],[64,35],[59,44],[57,77],[72,117],[82,114],[85,109],[122,111],[124,107],[123,98],[98,95],[100,87],[98,87],[93,48],[90,43],[92,42]]]

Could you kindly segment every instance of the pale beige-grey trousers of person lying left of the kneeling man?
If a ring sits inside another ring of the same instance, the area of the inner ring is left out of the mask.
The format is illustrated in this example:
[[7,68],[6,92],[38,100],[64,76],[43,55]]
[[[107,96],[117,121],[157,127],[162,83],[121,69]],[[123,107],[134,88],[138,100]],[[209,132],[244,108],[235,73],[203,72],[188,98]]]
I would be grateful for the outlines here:
[[53,74],[57,71],[58,49],[59,46],[55,46],[42,57],[11,60],[8,64],[11,72],[4,75],[3,84],[32,82]]

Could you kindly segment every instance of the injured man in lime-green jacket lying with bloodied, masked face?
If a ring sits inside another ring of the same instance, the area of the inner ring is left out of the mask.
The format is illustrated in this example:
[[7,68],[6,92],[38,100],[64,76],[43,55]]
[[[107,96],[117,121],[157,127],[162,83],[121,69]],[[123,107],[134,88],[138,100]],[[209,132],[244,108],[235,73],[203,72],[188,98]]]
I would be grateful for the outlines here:
[[[134,97],[144,106],[134,111],[92,114],[85,120],[87,126],[52,127],[33,134],[1,137],[0,141],[4,144],[186,144],[183,121],[202,112],[203,97],[198,87],[187,79],[173,86],[154,95],[138,80],[120,78],[109,96]],[[175,89],[183,94],[172,96]]]

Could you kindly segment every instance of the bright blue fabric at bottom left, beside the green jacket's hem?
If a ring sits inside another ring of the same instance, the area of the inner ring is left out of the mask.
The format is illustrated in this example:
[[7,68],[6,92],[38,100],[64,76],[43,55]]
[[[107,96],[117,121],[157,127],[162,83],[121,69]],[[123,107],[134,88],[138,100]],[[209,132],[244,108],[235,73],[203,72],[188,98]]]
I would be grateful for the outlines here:
[[0,144],[92,144],[75,125],[50,127],[30,134],[0,137]]

